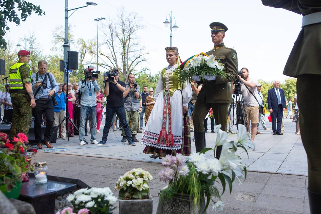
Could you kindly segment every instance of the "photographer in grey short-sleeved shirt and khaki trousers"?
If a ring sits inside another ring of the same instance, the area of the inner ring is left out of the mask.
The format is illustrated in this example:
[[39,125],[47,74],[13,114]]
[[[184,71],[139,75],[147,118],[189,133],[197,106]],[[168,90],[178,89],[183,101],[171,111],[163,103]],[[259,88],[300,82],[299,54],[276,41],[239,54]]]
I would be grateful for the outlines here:
[[[136,139],[137,134],[137,124],[139,120],[139,111],[142,110],[140,106],[140,102],[138,98],[140,98],[140,87],[135,82],[135,75],[133,73],[128,74],[127,76],[128,82],[126,83],[126,91],[124,92],[124,108],[126,114],[127,124],[130,122],[130,131],[132,134],[132,139],[134,142],[138,143],[139,141]],[[123,128],[123,132],[121,133],[123,136],[122,142],[126,142],[127,137],[125,130]]]

